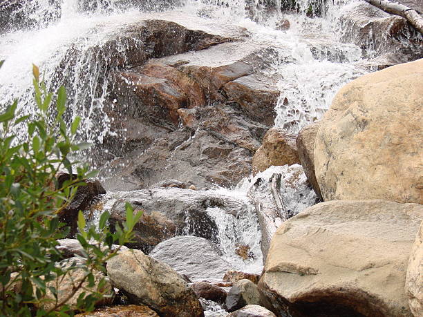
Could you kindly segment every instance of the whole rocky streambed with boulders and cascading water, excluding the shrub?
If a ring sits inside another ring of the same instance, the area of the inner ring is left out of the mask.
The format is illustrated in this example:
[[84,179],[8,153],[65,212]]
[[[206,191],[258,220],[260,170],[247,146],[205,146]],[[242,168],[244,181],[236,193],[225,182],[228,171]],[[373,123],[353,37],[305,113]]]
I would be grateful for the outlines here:
[[84,316],[423,314],[422,35],[285,2],[0,4],[0,104],[34,61],[94,143],[63,220],[144,211]]

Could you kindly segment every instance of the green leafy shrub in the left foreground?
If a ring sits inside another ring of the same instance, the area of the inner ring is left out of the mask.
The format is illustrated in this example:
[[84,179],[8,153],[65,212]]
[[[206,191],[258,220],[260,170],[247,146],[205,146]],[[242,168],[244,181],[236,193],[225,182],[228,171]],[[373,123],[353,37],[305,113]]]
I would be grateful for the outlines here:
[[[62,119],[65,89],[61,87],[53,95],[40,80],[36,66],[33,75],[37,111],[19,116],[15,101],[0,115],[0,316],[72,316],[75,307],[67,302],[83,283],[88,282],[88,288],[78,297],[77,310],[90,311],[106,296],[104,278],[95,285],[93,271],[105,272],[104,263],[131,239],[141,214],[134,215],[126,204],[126,223],[111,233],[106,225],[109,213],[102,213],[97,228],[86,228],[79,211],[77,240],[84,249],[83,264],[58,265],[64,256],[56,248],[57,239],[68,233],[58,214],[71,202],[77,187],[84,186],[84,180],[95,172],[88,173],[85,164],[72,158],[89,145],[76,142],[79,117],[69,126]],[[53,100],[55,107],[51,106]],[[25,140],[15,133],[20,126],[28,132]],[[71,175],[60,186],[56,178],[59,169]],[[113,243],[120,247],[113,250]],[[76,269],[84,270],[84,278],[74,285],[70,296],[59,298],[57,288],[50,286],[54,283],[48,282],[63,280]],[[47,299],[46,292],[55,299]]]

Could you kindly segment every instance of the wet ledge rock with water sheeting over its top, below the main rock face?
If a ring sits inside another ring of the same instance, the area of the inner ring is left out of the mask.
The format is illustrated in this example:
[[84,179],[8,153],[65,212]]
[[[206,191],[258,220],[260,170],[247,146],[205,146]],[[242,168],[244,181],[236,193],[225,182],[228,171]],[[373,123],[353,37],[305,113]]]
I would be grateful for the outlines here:
[[134,242],[129,246],[146,252],[163,240],[187,234],[217,242],[217,227],[207,209],[219,207],[232,215],[247,210],[245,202],[216,191],[167,188],[120,192],[107,196],[103,202],[104,210],[111,213],[112,228],[126,220],[125,202],[144,211],[135,224]]

